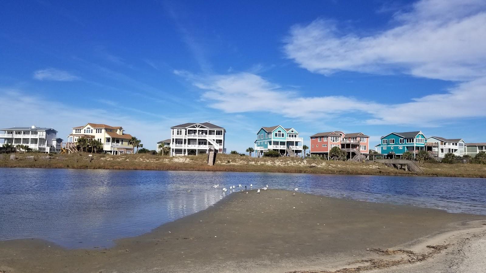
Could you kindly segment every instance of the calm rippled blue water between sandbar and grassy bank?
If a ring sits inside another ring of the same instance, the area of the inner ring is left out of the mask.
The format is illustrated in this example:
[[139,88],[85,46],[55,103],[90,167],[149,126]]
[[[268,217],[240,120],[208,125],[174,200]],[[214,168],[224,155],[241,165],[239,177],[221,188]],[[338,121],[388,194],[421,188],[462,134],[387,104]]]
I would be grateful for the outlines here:
[[110,246],[231,194],[214,184],[240,183],[486,215],[486,179],[478,178],[0,168],[0,240]]

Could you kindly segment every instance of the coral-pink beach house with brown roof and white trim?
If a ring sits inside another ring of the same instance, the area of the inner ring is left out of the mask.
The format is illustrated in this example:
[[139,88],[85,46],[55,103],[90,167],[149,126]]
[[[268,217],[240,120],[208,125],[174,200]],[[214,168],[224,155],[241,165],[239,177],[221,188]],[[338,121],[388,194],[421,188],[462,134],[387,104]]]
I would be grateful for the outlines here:
[[368,154],[369,136],[363,133],[349,133],[343,131],[317,133],[311,138],[310,154],[320,155],[329,159],[329,151],[333,147],[345,150],[348,158],[364,159]]

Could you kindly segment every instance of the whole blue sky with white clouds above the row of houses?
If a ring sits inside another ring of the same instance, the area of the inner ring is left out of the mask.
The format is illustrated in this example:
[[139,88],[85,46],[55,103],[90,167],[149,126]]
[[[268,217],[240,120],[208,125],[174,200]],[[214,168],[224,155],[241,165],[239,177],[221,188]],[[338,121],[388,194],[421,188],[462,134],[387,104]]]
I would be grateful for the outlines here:
[[[0,127],[185,122],[485,142],[486,3],[2,1]],[[374,146],[374,145],[373,145]]]

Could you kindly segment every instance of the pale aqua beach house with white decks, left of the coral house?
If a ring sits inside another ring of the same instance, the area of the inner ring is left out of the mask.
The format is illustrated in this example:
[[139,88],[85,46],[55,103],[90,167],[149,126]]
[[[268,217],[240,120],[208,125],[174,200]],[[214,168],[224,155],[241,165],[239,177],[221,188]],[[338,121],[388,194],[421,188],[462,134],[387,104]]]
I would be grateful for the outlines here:
[[255,140],[255,156],[260,157],[269,150],[278,151],[282,156],[301,156],[302,141],[294,128],[261,127]]

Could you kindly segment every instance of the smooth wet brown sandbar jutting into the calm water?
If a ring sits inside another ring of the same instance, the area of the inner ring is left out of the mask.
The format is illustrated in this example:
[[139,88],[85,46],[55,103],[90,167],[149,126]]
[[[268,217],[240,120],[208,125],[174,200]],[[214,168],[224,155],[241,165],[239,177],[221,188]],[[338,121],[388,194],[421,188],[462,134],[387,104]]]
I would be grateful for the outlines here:
[[426,250],[459,238],[458,230],[486,229],[485,215],[292,194],[234,193],[150,233],[119,239],[110,249],[0,241],[0,272],[335,271],[383,258],[369,250]]

